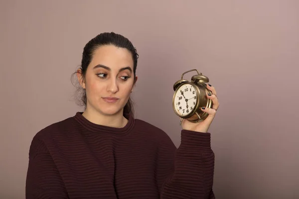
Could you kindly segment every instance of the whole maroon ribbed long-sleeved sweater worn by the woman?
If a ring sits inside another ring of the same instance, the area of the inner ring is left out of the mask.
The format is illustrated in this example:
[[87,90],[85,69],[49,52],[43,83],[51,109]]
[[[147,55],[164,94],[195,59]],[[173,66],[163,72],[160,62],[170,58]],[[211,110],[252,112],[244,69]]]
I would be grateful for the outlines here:
[[214,199],[210,133],[161,129],[127,116],[123,128],[77,112],[49,125],[29,150],[26,199]]

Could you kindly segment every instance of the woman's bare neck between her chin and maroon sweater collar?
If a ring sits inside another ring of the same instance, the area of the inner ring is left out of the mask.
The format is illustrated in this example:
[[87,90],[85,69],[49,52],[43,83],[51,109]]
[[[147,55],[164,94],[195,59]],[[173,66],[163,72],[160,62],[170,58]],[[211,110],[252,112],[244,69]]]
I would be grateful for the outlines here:
[[128,119],[123,116],[123,110],[114,115],[104,115],[95,109],[86,108],[82,115],[90,122],[103,126],[122,128],[128,123]]

